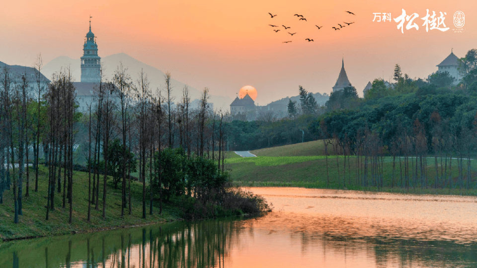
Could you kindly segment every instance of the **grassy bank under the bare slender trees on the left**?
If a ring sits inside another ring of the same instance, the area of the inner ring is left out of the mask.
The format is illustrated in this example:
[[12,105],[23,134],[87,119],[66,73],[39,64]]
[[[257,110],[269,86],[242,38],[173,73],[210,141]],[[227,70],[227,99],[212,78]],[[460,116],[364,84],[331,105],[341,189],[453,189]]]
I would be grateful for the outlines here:
[[[38,193],[34,192],[34,170],[30,169],[30,196],[23,197],[23,215],[19,216],[19,223],[13,223],[13,189],[3,193],[3,204],[0,204],[0,239],[15,239],[31,236],[48,236],[68,234],[72,231],[84,232],[89,230],[139,225],[153,222],[163,222],[177,219],[178,211],[172,205],[163,205],[162,214],[159,215],[159,203],[155,202],[154,213],[149,215],[149,200],[146,201],[147,218],[142,218],[142,185],[131,182],[132,215],[121,218],[121,189],[113,189],[107,185],[106,220],[102,219],[102,177],[100,179],[99,209],[91,207],[91,222],[88,223],[88,174],[75,171],[73,175],[73,223],[69,224],[69,204],[62,208],[62,194],[55,192],[55,210],[50,210],[50,219],[46,216],[46,191],[48,188],[47,168],[40,166]],[[62,181],[63,183],[63,181]],[[58,187],[58,185],[57,185]],[[26,183],[23,183],[23,195],[26,193]],[[147,195],[148,199],[149,195]],[[67,201],[68,202],[68,201]]]

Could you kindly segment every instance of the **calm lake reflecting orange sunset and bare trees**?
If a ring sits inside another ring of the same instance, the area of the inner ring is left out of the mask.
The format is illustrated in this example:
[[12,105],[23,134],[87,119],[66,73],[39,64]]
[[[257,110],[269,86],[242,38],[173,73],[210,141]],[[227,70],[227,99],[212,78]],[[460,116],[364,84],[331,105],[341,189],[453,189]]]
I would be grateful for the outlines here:
[[250,190],[274,211],[2,243],[0,267],[477,267],[475,197]]

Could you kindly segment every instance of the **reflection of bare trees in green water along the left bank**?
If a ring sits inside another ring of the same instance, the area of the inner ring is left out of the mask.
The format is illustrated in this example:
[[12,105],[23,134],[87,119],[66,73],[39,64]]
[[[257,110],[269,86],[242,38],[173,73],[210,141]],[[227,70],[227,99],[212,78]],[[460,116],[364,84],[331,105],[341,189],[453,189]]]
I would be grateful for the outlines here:
[[[0,267],[224,267],[237,221],[208,220],[17,241],[0,247]],[[236,239],[234,239],[236,244]],[[12,266],[13,264],[13,266]]]

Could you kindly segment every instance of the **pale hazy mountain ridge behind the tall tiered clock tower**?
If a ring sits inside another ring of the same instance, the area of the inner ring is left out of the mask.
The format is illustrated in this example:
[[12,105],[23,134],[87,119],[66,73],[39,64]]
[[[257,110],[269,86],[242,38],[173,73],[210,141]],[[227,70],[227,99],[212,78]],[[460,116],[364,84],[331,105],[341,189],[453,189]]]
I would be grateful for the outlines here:
[[[155,67],[142,63],[125,53],[114,54],[101,59],[106,79],[111,80],[114,71],[117,69],[120,62],[122,62],[124,67],[128,68],[128,73],[129,75],[131,75],[133,81],[137,80],[138,73],[140,73],[142,69],[144,70],[144,73],[148,75],[150,87],[153,92],[156,92],[157,88],[161,90],[165,88],[164,73],[162,71]],[[55,58],[51,62],[46,64],[41,70],[41,72],[46,77],[51,78],[53,73],[59,71],[61,68],[66,67],[70,67],[72,76],[75,78],[76,81],[79,82],[81,78],[81,67],[79,59],[74,60],[65,56]],[[172,92],[175,97],[174,101],[177,103],[180,101],[180,97],[182,96],[182,88],[184,88],[185,84],[175,79],[171,79],[171,84],[173,87]],[[191,101],[200,98],[200,90],[197,90],[196,88],[190,86],[188,86],[188,88]],[[214,109],[223,108],[225,110],[228,110],[230,108],[229,105],[232,103],[232,99],[228,96],[211,95],[209,102],[214,104]]]

